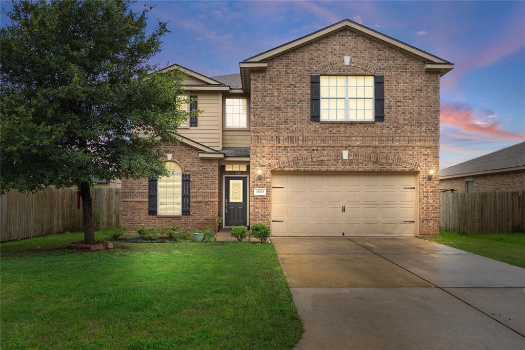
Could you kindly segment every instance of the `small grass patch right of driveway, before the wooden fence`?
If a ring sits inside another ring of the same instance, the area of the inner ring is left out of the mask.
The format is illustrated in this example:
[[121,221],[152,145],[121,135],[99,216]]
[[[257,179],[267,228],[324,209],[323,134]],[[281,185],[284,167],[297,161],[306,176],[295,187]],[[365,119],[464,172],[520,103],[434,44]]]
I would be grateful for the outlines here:
[[525,233],[457,234],[442,231],[437,237],[425,238],[525,268]]

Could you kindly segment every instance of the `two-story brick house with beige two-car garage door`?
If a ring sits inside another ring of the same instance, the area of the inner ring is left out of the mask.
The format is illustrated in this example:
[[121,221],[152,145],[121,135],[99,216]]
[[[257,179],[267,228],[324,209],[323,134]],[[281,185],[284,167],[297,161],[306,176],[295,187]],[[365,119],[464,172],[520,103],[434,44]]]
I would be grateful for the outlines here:
[[202,114],[165,144],[170,177],[123,179],[121,223],[263,222],[272,235],[439,231],[439,79],[454,65],[351,20],[185,71]]

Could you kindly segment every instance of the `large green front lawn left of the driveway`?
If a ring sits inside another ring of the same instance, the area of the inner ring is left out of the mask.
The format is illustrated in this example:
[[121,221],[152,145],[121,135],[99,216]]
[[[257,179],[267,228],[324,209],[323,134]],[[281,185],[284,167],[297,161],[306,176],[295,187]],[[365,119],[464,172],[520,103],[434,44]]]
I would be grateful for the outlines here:
[[2,349],[288,349],[302,334],[272,244],[63,248],[81,239],[1,245]]

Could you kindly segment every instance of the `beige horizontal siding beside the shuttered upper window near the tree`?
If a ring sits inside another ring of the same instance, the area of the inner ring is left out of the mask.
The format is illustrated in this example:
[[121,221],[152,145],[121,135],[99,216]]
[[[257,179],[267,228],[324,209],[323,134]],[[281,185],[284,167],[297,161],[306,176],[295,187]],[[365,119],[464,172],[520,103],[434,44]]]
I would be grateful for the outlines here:
[[179,128],[178,133],[208,147],[221,149],[222,94],[200,91],[190,91],[190,93],[197,96],[198,109],[202,113],[198,116],[197,127]]

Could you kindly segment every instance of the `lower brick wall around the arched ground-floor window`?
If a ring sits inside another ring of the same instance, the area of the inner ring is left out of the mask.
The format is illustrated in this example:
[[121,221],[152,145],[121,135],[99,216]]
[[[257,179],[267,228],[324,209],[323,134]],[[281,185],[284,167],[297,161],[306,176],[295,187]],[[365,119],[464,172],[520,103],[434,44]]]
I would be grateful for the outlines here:
[[218,160],[200,159],[198,150],[183,144],[162,147],[165,153],[173,155],[182,173],[191,175],[190,215],[163,217],[148,215],[148,179],[122,179],[120,222],[127,230],[134,230],[141,225],[160,227],[163,225],[181,225],[186,230],[215,227],[215,218],[219,212],[219,164]]

